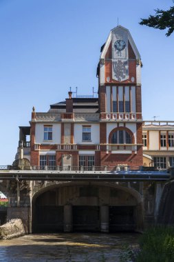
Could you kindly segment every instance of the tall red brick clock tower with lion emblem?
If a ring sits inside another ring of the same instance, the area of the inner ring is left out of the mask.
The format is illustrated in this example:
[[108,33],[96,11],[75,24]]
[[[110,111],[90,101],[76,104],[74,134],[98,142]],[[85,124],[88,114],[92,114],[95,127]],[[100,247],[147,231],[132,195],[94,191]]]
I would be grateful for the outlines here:
[[142,165],[141,67],[129,30],[113,28],[98,65],[101,165]]

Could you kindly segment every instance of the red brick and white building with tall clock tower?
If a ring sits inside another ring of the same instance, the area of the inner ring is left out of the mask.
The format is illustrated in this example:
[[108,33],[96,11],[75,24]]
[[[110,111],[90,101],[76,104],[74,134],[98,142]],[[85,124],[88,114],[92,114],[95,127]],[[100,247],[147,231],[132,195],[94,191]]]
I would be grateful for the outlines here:
[[[98,98],[72,97],[32,111],[20,127],[19,165],[41,168],[137,168],[142,161],[140,54],[129,30],[117,26],[101,48]],[[26,140],[30,135],[30,141]]]

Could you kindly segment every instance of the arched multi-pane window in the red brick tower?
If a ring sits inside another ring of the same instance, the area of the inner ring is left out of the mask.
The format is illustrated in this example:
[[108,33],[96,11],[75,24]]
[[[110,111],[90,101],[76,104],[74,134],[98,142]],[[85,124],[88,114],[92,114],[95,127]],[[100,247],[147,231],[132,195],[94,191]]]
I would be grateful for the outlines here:
[[111,143],[132,143],[131,135],[125,130],[117,130],[112,134]]

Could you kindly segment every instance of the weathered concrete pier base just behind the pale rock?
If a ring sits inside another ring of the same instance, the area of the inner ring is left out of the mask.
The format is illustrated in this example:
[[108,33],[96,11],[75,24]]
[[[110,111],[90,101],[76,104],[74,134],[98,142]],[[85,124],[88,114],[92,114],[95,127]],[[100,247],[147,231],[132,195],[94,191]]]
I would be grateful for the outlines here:
[[8,207],[7,220],[21,219],[25,233],[30,232],[30,208]]

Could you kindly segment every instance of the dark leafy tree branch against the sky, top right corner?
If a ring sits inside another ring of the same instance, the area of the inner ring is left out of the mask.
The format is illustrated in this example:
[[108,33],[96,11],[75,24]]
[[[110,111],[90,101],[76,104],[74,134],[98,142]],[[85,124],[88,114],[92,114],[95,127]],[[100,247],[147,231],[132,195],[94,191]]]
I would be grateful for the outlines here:
[[[174,3],[174,1],[173,1]],[[168,29],[166,36],[169,37],[174,31],[174,6],[164,11],[157,9],[155,15],[150,15],[147,19],[141,19],[140,25],[158,28],[160,30]]]

